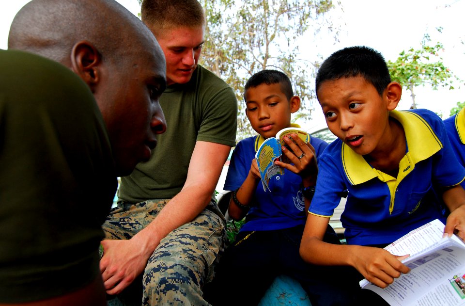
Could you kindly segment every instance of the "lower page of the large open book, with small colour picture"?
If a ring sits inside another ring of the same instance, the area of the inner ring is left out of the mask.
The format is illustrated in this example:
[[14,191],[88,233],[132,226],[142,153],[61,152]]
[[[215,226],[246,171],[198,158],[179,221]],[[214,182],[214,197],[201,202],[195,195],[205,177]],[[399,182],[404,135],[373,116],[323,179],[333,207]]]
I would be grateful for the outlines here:
[[404,264],[411,271],[402,274],[385,289],[368,284],[365,289],[379,294],[391,306],[465,304],[465,247],[453,238],[444,238],[437,247]]

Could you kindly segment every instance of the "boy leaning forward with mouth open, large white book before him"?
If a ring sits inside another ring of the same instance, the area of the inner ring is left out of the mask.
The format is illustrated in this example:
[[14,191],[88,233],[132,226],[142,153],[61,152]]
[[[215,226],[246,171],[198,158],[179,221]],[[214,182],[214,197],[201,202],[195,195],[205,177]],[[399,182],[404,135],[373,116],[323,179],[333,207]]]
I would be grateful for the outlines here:
[[[300,254],[323,265],[352,266],[385,288],[409,268],[381,247],[436,218],[445,221],[433,187],[448,208],[445,234],[464,236],[465,169],[455,158],[442,120],[427,110],[395,111],[402,87],[390,80],[383,56],[367,47],[344,48],[322,64],[318,101],[339,139],[319,159]],[[325,226],[347,190],[341,215],[348,245],[322,241]],[[376,246],[376,247],[372,247]]]

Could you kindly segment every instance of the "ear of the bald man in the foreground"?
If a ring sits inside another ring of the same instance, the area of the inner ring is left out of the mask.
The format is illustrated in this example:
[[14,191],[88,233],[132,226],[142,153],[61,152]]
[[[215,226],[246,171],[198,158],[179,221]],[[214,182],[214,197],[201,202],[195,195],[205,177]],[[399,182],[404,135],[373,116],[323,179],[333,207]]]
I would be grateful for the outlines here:
[[101,59],[93,44],[85,40],[76,43],[71,50],[71,69],[89,85],[93,93],[100,77],[97,67]]

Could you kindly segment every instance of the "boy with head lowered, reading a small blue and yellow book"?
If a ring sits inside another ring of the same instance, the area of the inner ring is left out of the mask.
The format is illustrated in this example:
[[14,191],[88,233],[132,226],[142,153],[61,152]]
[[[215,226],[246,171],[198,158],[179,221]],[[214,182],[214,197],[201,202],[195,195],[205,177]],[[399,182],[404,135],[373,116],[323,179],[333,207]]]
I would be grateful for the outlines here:
[[[309,295],[311,305],[351,305],[347,294],[358,282],[334,282],[341,273],[335,267],[320,267],[300,258],[299,244],[316,183],[316,158],[327,144],[310,138],[306,145],[297,135],[285,141],[284,149],[292,163],[276,161],[286,168],[281,176],[271,177],[270,191],[263,191],[255,160],[256,150],[267,138],[291,126],[291,113],[300,107],[291,81],[282,72],[263,70],[245,86],[247,117],[259,134],[240,141],[233,152],[225,190],[233,191],[229,214],[235,220],[246,216],[236,241],[221,257],[215,277],[204,287],[205,299],[212,305],[257,305],[276,276],[287,274],[298,280]],[[294,136],[294,135],[291,135]],[[325,241],[339,243],[334,230],[326,225]],[[352,286],[352,287],[351,287]],[[224,288],[233,294],[225,298]]]

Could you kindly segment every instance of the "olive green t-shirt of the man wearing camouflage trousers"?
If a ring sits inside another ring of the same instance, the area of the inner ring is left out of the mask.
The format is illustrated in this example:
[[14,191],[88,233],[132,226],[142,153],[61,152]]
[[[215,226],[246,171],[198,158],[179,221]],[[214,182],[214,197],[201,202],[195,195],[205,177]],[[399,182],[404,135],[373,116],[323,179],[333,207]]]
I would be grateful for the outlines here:
[[118,197],[129,203],[171,199],[186,182],[197,141],[235,145],[237,99],[233,89],[198,65],[186,84],[168,86],[160,97],[166,132],[157,135],[152,157],[121,178]]

